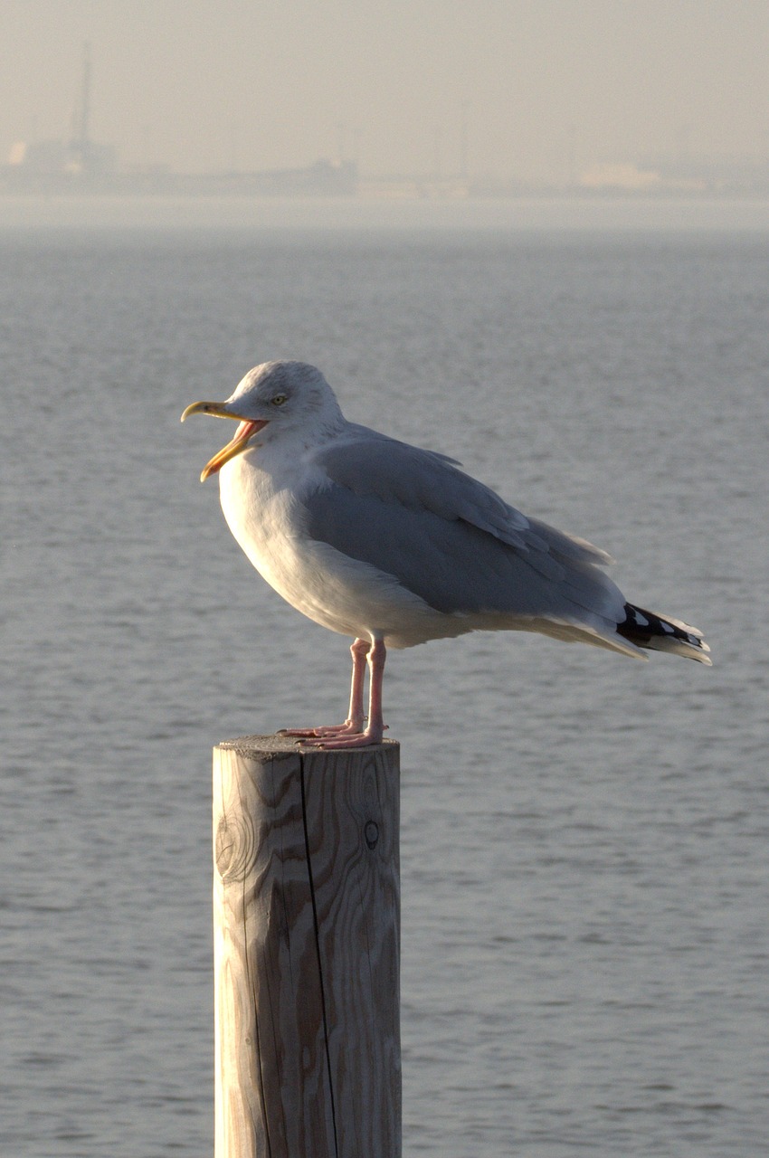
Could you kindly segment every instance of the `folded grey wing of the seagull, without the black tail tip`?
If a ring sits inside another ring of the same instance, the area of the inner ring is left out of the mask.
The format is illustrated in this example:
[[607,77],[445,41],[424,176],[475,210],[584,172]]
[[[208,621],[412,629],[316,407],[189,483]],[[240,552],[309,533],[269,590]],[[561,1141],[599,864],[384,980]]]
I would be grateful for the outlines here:
[[440,455],[362,427],[321,448],[328,485],[302,497],[309,535],[394,576],[446,614],[622,618],[581,540],[508,506]]

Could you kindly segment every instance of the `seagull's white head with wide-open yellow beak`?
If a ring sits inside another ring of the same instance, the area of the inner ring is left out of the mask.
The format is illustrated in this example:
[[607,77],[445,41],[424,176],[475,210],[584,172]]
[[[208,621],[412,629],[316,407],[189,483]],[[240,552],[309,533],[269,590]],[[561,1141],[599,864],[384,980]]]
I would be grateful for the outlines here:
[[344,424],[334,390],[320,369],[298,361],[255,366],[226,402],[193,402],[182,415],[182,422],[190,415],[213,415],[240,422],[232,442],[204,468],[202,482],[255,445],[252,440],[257,435],[259,446],[287,435],[309,446],[323,441]]

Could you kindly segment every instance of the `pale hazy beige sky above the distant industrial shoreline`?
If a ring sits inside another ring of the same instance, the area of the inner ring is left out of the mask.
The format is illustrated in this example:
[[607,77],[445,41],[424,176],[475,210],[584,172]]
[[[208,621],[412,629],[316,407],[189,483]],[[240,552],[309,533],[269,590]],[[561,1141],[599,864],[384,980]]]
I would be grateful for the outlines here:
[[[565,179],[649,153],[769,155],[769,0],[0,0],[0,156],[68,133],[199,171]],[[572,160],[573,159],[573,160]]]

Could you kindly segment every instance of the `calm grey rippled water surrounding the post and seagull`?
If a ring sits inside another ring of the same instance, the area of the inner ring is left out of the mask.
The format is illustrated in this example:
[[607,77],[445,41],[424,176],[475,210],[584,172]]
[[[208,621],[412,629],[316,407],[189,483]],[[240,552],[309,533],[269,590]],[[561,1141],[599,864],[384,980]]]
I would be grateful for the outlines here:
[[0,1155],[212,1152],[211,747],[346,706],[178,424],[279,357],[713,648],[390,657],[404,1153],[766,1152],[769,233],[30,228],[0,298]]

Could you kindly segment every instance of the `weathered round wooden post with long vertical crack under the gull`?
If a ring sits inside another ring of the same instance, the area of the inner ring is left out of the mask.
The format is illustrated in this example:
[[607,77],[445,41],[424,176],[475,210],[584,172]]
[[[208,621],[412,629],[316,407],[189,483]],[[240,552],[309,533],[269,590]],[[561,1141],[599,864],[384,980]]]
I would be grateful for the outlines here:
[[400,1158],[398,745],[214,748],[215,1158]]

